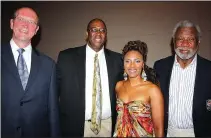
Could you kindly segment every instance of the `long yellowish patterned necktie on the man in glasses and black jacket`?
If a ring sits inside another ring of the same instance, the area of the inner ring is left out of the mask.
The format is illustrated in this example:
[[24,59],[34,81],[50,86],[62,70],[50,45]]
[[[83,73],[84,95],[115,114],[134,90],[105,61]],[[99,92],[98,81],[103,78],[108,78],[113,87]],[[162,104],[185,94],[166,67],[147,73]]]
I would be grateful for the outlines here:
[[102,115],[102,90],[100,80],[100,66],[98,55],[94,58],[94,77],[93,77],[93,93],[92,93],[92,118],[91,130],[97,135],[100,132]]

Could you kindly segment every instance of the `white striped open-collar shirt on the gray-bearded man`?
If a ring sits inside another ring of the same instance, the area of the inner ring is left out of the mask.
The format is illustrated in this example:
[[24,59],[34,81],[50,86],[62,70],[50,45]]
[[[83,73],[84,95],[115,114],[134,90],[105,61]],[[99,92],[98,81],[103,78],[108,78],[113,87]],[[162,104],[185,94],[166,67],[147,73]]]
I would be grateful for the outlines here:
[[169,88],[168,129],[193,129],[192,107],[197,55],[181,68],[175,55]]

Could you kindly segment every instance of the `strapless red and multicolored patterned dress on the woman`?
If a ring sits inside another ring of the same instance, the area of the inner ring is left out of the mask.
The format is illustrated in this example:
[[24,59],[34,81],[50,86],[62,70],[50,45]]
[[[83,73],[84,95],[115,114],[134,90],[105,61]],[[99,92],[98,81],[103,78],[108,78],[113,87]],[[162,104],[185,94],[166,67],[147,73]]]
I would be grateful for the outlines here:
[[151,107],[140,100],[124,103],[117,99],[114,137],[153,137]]

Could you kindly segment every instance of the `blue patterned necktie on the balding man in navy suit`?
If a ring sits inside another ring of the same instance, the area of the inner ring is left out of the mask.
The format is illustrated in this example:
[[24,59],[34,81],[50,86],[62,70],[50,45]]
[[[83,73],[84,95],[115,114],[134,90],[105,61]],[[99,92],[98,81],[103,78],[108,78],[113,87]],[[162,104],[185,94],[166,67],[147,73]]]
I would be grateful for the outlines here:
[[28,77],[29,77],[29,73],[28,73],[28,70],[27,70],[26,62],[23,58],[23,52],[24,51],[25,50],[22,49],[22,48],[18,49],[19,56],[18,56],[17,68],[18,68],[18,73],[20,75],[20,79],[21,79],[23,89],[25,90],[26,84],[27,84],[27,81],[28,81]]

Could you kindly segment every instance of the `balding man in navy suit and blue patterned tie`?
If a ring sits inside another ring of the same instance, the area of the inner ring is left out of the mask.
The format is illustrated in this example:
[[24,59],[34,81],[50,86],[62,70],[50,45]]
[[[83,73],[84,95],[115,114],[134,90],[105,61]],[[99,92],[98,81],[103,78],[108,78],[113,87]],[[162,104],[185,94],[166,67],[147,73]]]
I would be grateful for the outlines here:
[[55,62],[31,46],[38,20],[33,9],[18,9],[12,39],[1,47],[2,137],[59,136]]

